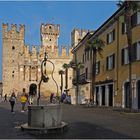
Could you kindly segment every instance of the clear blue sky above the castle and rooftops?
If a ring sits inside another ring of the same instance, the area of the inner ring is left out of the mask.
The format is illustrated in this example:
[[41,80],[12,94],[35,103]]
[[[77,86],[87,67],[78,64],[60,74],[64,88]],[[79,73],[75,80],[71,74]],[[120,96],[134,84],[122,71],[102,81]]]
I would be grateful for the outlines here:
[[60,24],[59,47],[71,46],[71,31],[96,30],[117,9],[116,1],[0,1],[0,80],[2,23],[25,25],[25,45],[40,46],[41,23]]

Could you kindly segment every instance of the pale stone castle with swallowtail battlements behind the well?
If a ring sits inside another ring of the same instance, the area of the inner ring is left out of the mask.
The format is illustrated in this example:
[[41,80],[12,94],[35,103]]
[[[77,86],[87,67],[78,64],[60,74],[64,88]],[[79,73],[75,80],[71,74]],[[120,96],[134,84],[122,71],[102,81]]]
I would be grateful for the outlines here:
[[[58,71],[62,69],[64,63],[69,63],[72,60],[71,48],[66,51],[66,47],[62,47],[61,52],[58,47],[58,38],[60,34],[60,25],[41,24],[40,37],[41,45],[39,52],[37,46],[29,46],[25,42],[25,26],[20,25],[17,30],[16,24],[11,25],[8,30],[8,24],[2,25],[2,82],[3,95],[10,95],[15,92],[16,95],[22,93],[23,89],[29,92],[31,85],[36,85],[41,78],[40,65],[44,58],[44,53],[47,52],[48,59],[54,63],[55,71],[54,79],[58,86],[53,81],[51,74],[53,65],[46,63],[46,73],[49,77],[48,83],[42,83],[41,93],[44,96],[49,96],[51,92],[56,93],[57,88],[60,94],[61,79]],[[64,80],[65,85],[65,80]],[[72,87],[72,69],[69,69],[68,88]]]

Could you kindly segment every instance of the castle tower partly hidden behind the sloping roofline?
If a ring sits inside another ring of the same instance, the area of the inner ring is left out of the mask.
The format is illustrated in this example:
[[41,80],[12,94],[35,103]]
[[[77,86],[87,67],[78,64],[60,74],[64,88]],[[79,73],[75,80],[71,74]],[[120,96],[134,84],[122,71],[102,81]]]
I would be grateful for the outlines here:
[[71,32],[71,46],[75,47],[89,30],[74,28]]

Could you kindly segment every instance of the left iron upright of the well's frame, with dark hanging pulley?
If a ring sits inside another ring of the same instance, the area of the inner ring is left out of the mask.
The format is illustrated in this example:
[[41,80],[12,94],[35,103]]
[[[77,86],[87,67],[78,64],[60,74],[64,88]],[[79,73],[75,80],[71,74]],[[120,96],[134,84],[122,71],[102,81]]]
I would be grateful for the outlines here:
[[39,100],[40,100],[40,86],[41,86],[41,83],[42,83],[42,81],[44,83],[46,83],[49,80],[49,77],[46,75],[46,72],[45,73],[43,72],[43,66],[45,66],[45,71],[46,71],[46,61],[47,61],[47,59],[48,59],[48,56],[47,56],[47,53],[45,52],[44,60],[41,63],[41,79],[40,79],[40,82],[39,82],[39,85],[38,85],[37,105],[39,105]]

